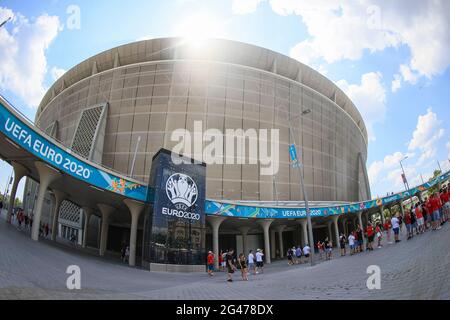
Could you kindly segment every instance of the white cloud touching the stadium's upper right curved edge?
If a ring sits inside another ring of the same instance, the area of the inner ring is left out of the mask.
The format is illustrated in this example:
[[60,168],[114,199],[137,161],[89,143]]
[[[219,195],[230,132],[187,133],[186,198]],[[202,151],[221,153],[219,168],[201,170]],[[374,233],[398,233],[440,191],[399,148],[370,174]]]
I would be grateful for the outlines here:
[[370,72],[362,75],[361,84],[349,84],[346,80],[336,82],[361,112],[370,140],[375,140],[373,124],[383,121],[387,109],[381,79],[381,73]]

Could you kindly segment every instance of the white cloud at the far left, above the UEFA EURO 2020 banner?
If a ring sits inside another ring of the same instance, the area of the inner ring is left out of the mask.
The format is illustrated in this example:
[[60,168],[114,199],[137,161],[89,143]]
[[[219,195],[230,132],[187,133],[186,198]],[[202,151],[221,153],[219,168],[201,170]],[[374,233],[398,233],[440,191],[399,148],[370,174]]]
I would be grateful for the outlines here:
[[0,7],[0,20],[8,16],[13,20],[0,29],[0,88],[14,92],[29,106],[37,106],[46,91],[45,51],[61,24],[56,16],[43,14],[31,22]]

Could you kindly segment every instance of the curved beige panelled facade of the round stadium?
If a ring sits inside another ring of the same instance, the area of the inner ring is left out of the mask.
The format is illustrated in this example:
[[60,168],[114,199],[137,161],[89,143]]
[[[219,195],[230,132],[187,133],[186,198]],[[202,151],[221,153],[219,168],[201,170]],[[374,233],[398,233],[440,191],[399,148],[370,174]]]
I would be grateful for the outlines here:
[[[311,112],[301,116],[304,110]],[[318,72],[257,46],[208,40],[196,47],[180,38],[164,38],[113,48],[58,79],[36,115],[36,125],[68,148],[145,184],[153,156],[177,143],[171,141],[172,132],[193,131],[195,121],[201,121],[203,130],[279,130],[280,165],[274,176],[261,175],[249,159],[241,165],[208,165],[208,199],[287,205],[302,201],[298,173],[289,159],[293,138],[304,165],[308,200],[370,199],[367,130],[355,105]],[[36,183],[28,180],[28,212],[36,190]],[[51,206],[49,197],[47,204]],[[69,202],[62,206],[63,237],[75,231],[81,239],[78,209]],[[96,228],[95,221],[91,224]],[[111,230],[108,248],[116,250],[127,237],[123,224],[112,223],[112,228],[117,230]],[[236,240],[236,228],[239,222],[228,225],[221,241],[230,246],[242,241]],[[89,234],[94,245],[98,239]],[[290,242],[295,237],[288,236]],[[255,235],[255,246],[260,238]],[[207,247],[208,242],[207,234]]]

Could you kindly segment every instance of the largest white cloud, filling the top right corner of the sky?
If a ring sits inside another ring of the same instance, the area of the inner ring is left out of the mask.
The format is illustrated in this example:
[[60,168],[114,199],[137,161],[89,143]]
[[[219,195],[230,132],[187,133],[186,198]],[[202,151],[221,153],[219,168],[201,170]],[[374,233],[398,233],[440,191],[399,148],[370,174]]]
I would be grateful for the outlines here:
[[[431,78],[450,66],[450,1],[268,1],[277,14],[297,15],[306,25],[310,38],[291,50],[292,57],[306,64],[359,60],[366,51],[405,45],[411,53],[405,81]],[[399,88],[398,80],[393,88]]]

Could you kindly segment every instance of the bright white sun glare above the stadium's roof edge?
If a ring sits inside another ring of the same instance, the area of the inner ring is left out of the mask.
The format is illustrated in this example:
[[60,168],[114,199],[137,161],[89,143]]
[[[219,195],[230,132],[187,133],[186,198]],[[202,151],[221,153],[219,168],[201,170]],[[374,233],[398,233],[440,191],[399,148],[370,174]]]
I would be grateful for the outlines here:
[[208,12],[198,12],[181,20],[175,28],[175,36],[201,47],[206,39],[225,38],[224,22]]

